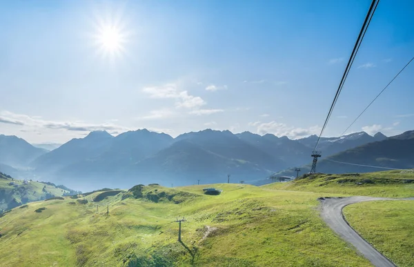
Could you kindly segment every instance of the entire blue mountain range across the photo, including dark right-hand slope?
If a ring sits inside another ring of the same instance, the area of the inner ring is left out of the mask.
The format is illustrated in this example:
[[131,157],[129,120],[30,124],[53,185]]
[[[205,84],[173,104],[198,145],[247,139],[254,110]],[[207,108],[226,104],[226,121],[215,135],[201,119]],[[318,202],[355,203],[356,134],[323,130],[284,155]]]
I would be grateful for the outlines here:
[[[391,157],[376,149],[387,153],[395,150],[393,146],[413,148],[413,136],[410,132],[390,138],[381,132],[374,136],[355,132],[322,137],[318,150],[322,150],[323,157],[317,170],[353,172],[357,167],[335,161],[411,168],[411,154],[395,152]],[[297,166],[302,166],[302,173],[308,171],[316,140],[316,135],[293,140],[210,129],[172,138],[142,129],[116,137],[106,131],[90,132],[48,151],[18,137],[0,135],[0,171],[7,169],[16,177],[53,181],[78,190],[146,183],[183,186],[197,180],[210,184],[226,182],[228,175],[230,182],[254,183],[275,173],[293,176],[292,168]],[[373,170],[364,168],[358,166],[357,171]]]

